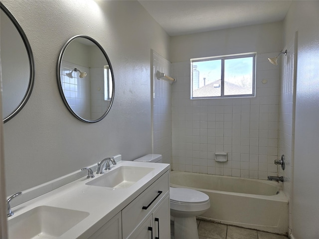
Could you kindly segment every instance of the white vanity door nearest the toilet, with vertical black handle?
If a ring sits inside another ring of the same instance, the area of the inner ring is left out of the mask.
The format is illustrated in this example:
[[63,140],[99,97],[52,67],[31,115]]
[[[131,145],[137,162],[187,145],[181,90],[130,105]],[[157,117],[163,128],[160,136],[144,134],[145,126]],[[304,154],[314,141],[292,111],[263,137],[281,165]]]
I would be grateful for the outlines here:
[[153,239],[170,238],[169,195],[161,202],[153,213]]

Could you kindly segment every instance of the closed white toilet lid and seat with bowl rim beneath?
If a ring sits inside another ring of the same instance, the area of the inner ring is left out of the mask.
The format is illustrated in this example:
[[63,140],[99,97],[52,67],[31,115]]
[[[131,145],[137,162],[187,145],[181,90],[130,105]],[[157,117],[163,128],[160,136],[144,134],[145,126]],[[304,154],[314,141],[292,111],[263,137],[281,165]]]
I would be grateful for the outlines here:
[[209,197],[189,188],[169,188],[170,209],[183,212],[201,212],[210,207]]

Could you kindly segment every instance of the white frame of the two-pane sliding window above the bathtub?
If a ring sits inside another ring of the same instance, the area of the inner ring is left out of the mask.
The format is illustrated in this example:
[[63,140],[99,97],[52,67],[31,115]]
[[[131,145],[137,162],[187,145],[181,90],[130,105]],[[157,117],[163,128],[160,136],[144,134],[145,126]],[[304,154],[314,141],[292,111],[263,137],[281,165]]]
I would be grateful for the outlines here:
[[[223,56],[212,56],[212,57],[201,57],[201,58],[192,58],[190,59],[190,99],[191,100],[200,100],[200,99],[225,99],[225,98],[245,98],[245,97],[256,97],[256,52],[243,53],[243,54],[232,54],[232,55],[223,55]],[[239,58],[253,58],[253,72],[252,72],[252,94],[245,95],[225,95],[224,94],[224,81],[225,81],[225,60],[229,59],[239,59]],[[210,61],[210,60],[221,60],[221,79],[220,79],[220,96],[203,96],[203,97],[193,97],[193,64],[201,61]]]

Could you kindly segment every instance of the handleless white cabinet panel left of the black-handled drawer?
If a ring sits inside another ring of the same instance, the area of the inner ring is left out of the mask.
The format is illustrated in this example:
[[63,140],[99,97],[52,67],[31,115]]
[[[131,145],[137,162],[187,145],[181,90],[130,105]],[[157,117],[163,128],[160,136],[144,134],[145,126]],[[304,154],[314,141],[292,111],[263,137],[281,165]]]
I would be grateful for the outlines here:
[[121,212],[98,229],[89,239],[122,239]]

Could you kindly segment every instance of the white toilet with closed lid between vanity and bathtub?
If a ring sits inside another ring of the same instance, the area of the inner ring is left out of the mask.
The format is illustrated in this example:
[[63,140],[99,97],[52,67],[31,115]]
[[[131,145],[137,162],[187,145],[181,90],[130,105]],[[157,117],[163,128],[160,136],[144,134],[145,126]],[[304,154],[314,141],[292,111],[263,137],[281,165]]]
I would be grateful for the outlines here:
[[[161,163],[160,154],[148,154],[134,161]],[[209,197],[188,188],[169,187],[170,216],[174,221],[175,239],[198,239],[196,216],[210,207]]]

